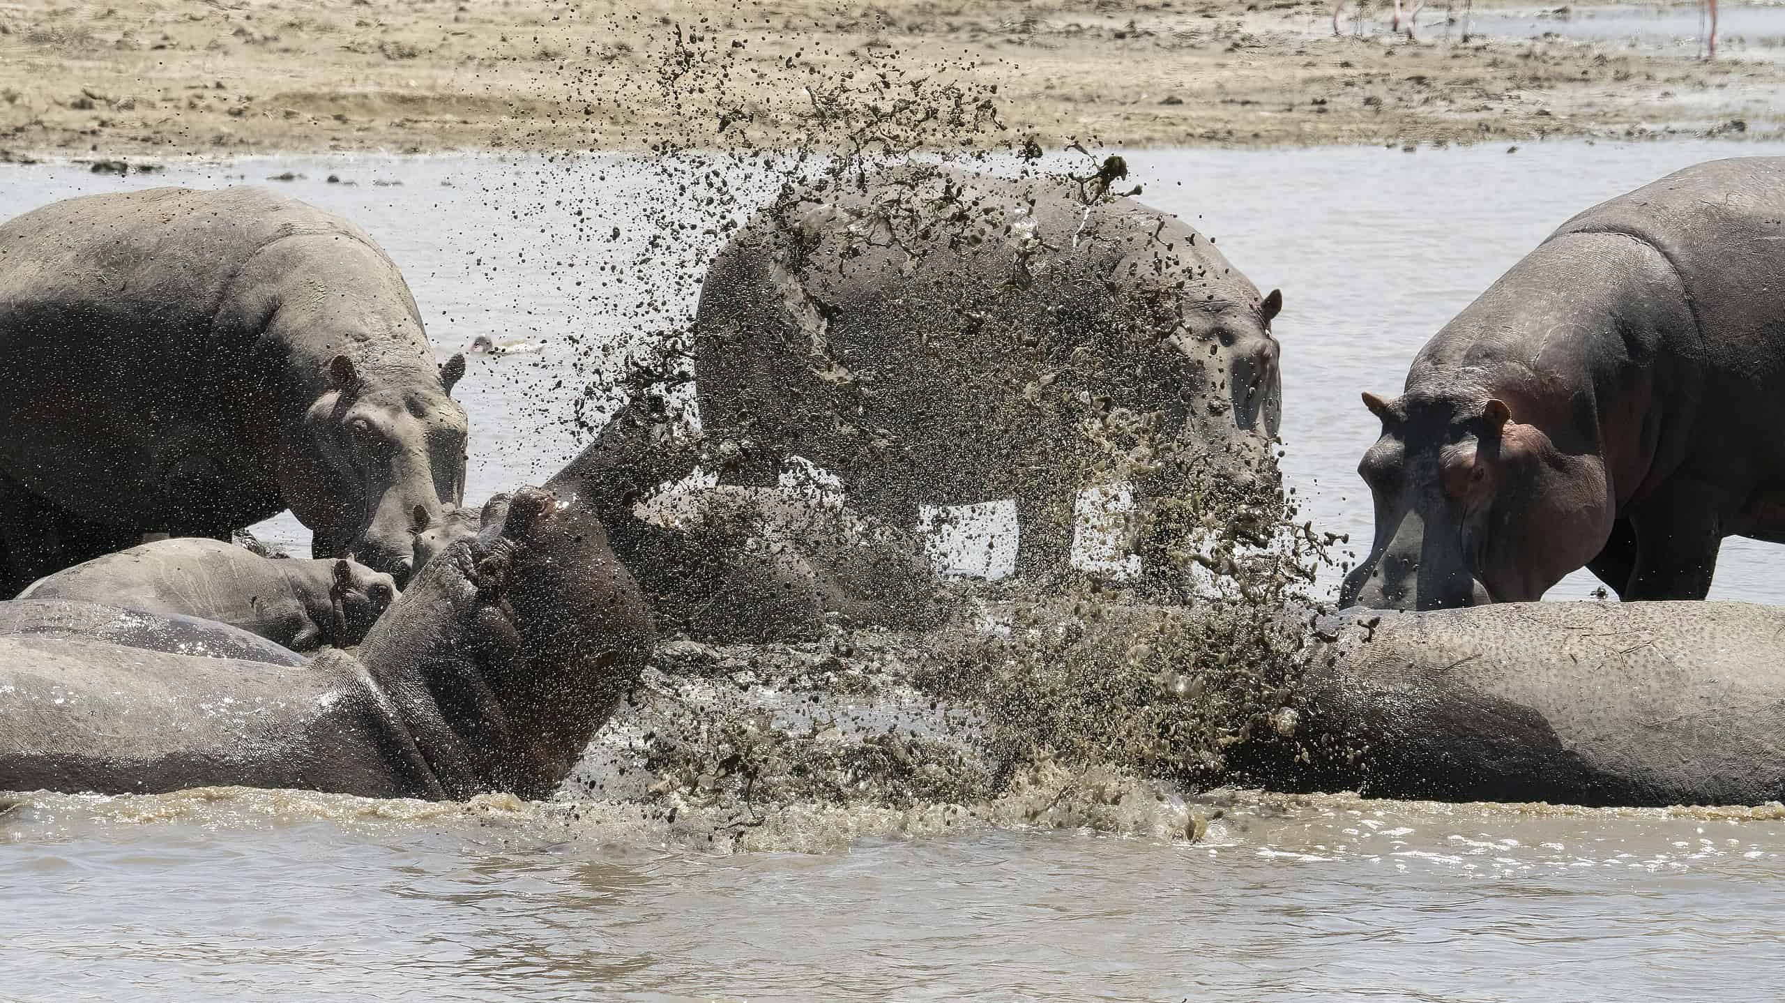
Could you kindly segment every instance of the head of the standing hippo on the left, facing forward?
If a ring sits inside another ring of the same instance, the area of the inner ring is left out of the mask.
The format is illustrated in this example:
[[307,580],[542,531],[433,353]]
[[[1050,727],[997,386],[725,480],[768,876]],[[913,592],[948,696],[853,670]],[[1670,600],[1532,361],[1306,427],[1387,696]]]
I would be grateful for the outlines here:
[[466,418],[448,394],[464,375],[453,355],[421,378],[328,362],[327,389],[305,410],[300,457],[280,469],[293,514],[316,534],[318,557],[355,553],[407,584],[416,512],[428,521],[464,494]]

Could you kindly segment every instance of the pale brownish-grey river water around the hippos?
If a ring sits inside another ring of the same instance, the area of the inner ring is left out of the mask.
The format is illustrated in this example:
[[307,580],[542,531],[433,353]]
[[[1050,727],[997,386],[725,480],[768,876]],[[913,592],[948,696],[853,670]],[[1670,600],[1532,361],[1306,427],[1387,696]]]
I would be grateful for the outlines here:
[[[1376,423],[1358,393],[1398,393],[1414,352],[1571,214],[1753,153],[1785,148],[1128,162],[1146,202],[1283,289],[1285,477],[1317,526],[1367,543],[1353,466]],[[302,177],[264,180],[286,173]],[[669,314],[691,309],[673,264],[594,273],[587,234],[619,228],[612,243],[635,250],[637,200],[668,198],[619,159],[193,161],[121,178],[9,166],[0,214],[243,180],[369,230],[443,357],[478,334],[544,346],[475,357],[457,391],[473,500],[543,480],[573,452],[559,421],[580,391],[571,339],[625,343],[630,307],[653,294],[680,296]],[[307,541],[289,518],[261,532]],[[996,575],[1007,543],[944,557]],[[1780,557],[1730,541],[1712,594],[1781,601]],[[1594,585],[1576,575],[1551,598]],[[807,805],[750,830],[657,816],[507,798],[21,796],[0,814],[0,999],[1708,999],[1767,998],[1785,974],[1778,808],[1210,800],[1128,783],[1098,803]],[[1207,832],[1191,842],[1194,819]]]

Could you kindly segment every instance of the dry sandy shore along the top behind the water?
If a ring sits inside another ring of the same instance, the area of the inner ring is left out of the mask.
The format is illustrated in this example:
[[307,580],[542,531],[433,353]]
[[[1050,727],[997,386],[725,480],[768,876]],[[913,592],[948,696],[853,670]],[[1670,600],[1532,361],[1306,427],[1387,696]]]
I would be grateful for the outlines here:
[[[721,91],[748,95],[753,137],[775,143],[803,134],[785,111],[801,87],[864,59],[996,86],[1000,121],[1044,145],[1776,136],[1765,112],[1785,87],[1785,61],[1755,50],[1703,62],[1558,37],[1464,43],[1432,11],[1417,41],[1382,25],[1333,37],[1330,5],[1299,0],[578,7],[0,2],[0,155],[625,148],[700,128],[725,143]],[[673,80],[693,86],[666,100]]]

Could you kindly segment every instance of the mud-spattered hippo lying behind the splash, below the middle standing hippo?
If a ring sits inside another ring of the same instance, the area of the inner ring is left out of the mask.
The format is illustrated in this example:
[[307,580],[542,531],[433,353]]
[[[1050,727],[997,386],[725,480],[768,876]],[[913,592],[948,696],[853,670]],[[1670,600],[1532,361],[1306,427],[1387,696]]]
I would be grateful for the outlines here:
[[612,526],[659,626],[716,642],[816,637],[826,625],[939,619],[921,541],[778,491],[714,487],[653,498]]

